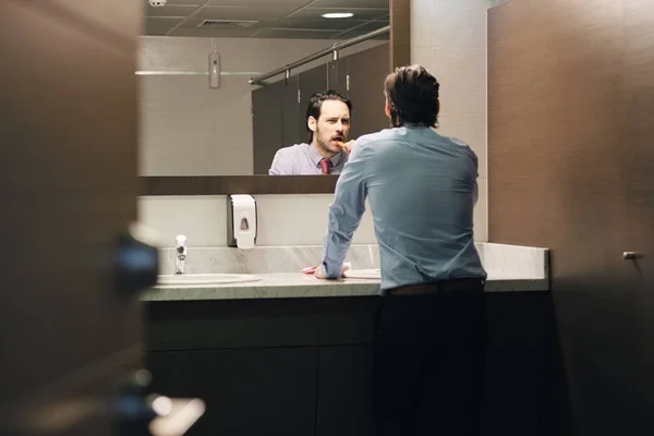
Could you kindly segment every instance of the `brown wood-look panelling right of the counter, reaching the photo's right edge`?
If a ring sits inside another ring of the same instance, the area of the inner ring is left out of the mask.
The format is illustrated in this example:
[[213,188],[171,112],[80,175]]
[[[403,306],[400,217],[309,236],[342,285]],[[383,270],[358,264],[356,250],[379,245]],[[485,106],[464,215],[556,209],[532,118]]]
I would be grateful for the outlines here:
[[552,249],[580,435],[652,433],[653,28],[652,0],[488,15],[488,235]]

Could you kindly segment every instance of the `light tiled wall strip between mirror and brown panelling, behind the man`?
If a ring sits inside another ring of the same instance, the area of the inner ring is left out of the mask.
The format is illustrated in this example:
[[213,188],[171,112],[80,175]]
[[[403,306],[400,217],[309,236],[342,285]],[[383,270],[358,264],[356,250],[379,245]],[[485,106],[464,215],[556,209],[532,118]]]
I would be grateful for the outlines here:
[[487,240],[486,12],[491,0],[411,0],[411,62],[440,83],[439,133],[467,142],[480,160],[477,241]]

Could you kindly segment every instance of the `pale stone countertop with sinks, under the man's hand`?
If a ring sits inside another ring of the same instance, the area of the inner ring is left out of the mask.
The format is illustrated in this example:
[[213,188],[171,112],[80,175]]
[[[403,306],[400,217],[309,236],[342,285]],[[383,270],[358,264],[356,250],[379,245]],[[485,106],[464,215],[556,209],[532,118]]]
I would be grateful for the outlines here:
[[[301,272],[257,274],[259,281],[228,284],[165,286],[149,289],[142,301],[298,299],[379,294],[378,279],[320,280]],[[486,292],[547,291],[546,277],[488,272]]]

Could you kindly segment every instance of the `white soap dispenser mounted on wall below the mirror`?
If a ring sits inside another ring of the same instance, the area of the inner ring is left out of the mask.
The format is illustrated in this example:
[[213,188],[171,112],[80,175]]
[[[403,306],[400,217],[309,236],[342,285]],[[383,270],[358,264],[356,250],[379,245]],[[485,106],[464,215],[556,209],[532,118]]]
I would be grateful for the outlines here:
[[227,196],[227,244],[252,250],[256,243],[256,201],[252,195]]

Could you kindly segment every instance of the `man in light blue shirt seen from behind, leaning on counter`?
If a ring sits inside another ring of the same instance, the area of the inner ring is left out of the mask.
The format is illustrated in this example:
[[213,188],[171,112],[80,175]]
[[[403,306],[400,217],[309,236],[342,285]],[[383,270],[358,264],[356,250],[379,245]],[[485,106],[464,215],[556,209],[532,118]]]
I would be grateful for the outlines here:
[[486,271],[474,246],[477,158],[436,133],[439,84],[403,66],[384,84],[391,129],[360,137],[338,180],[318,278],[337,279],[370,199],[383,305],[375,327],[376,435],[475,435]]

